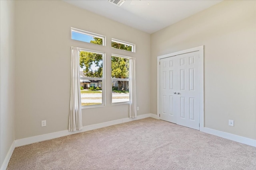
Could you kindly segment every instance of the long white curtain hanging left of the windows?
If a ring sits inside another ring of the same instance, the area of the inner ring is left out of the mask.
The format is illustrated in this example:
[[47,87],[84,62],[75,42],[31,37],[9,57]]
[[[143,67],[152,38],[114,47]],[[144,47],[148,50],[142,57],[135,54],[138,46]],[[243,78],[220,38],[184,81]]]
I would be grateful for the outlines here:
[[71,88],[68,131],[76,131],[83,129],[79,62],[79,49],[77,47],[71,47]]

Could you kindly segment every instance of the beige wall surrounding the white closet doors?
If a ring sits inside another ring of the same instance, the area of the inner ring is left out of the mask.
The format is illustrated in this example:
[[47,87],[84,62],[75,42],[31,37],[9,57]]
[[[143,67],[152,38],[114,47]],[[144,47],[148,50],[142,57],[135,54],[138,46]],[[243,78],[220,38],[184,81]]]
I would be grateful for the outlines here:
[[223,1],[151,35],[151,113],[157,56],[201,45],[205,127],[256,139],[256,1]]

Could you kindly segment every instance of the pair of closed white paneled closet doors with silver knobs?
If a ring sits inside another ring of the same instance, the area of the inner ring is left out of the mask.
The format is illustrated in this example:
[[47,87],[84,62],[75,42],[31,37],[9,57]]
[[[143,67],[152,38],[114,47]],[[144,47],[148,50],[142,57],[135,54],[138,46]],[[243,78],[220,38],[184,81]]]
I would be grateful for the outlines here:
[[198,51],[160,59],[160,119],[199,130],[198,59]]

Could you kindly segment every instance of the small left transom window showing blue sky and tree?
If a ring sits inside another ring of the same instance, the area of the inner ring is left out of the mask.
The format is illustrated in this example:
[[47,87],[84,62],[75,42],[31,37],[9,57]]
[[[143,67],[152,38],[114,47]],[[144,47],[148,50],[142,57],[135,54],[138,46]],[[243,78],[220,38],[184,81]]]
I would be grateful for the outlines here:
[[86,43],[106,45],[106,37],[103,35],[90,33],[81,29],[76,29],[71,27],[71,39],[84,41]]

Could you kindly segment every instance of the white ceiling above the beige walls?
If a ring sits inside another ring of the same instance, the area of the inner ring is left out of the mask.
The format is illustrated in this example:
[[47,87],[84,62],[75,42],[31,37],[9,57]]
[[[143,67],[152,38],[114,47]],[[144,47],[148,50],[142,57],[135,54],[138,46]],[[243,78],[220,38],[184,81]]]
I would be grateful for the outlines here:
[[222,0],[126,0],[116,6],[108,0],[64,0],[147,33],[192,16]]

